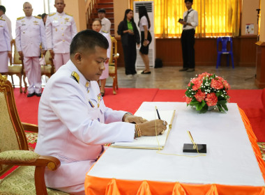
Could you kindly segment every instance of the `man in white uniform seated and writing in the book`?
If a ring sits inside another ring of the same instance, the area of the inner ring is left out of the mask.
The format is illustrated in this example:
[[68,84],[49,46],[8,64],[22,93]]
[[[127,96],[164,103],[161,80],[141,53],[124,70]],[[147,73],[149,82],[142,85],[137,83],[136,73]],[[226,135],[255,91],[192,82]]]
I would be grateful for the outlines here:
[[[84,179],[103,153],[103,145],[132,141],[166,130],[163,120],[147,121],[105,107],[97,80],[105,70],[107,39],[85,30],[70,45],[70,61],[47,81],[38,109],[36,153],[59,158],[56,171],[45,170],[47,187],[84,194]],[[124,122],[127,123],[124,123]],[[136,123],[136,124],[133,124]]]

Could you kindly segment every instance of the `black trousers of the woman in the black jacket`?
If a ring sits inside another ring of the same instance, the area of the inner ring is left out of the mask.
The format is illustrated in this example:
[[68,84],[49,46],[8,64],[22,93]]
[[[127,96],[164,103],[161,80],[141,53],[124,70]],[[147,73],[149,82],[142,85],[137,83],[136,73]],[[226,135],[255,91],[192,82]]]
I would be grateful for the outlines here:
[[136,42],[133,37],[128,40],[128,45],[123,45],[123,56],[125,63],[125,74],[135,75]]

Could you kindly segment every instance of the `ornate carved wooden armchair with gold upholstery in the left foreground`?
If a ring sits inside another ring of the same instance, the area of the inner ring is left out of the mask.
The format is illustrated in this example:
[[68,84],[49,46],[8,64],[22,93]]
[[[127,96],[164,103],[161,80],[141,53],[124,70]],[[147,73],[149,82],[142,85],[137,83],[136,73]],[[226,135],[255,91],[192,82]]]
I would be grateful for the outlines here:
[[37,125],[21,123],[15,106],[13,87],[0,74],[0,176],[13,166],[15,171],[0,180],[0,194],[67,194],[46,188],[45,167],[56,170],[56,157],[41,156],[29,151],[24,130],[38,132]]

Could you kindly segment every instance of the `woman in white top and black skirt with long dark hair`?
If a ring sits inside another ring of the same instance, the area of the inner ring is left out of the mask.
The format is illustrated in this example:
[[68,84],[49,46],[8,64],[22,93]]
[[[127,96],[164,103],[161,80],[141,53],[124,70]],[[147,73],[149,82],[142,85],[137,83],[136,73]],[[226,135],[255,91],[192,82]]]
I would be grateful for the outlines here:
[[141,48],[139,54],[142,57],[145,65],[145,69],[143,70],[142,74],[151,74],[148,57],[149,44],[152,41],[151,33],[149,32],[151,24],[145,6],[139,6],[138,26],[141,31]]

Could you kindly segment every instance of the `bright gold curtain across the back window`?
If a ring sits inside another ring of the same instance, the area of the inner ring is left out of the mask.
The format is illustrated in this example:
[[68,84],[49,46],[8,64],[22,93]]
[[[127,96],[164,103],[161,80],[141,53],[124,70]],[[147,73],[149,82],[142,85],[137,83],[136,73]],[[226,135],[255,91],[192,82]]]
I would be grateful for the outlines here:
[[[133,6],[130,0],[130,8]],[[185,10],[184,0],[154,0],[156,37],[179,37]],[[192,8],[198,12],[197,37],[239,36],[241,0],[195,0]]]

